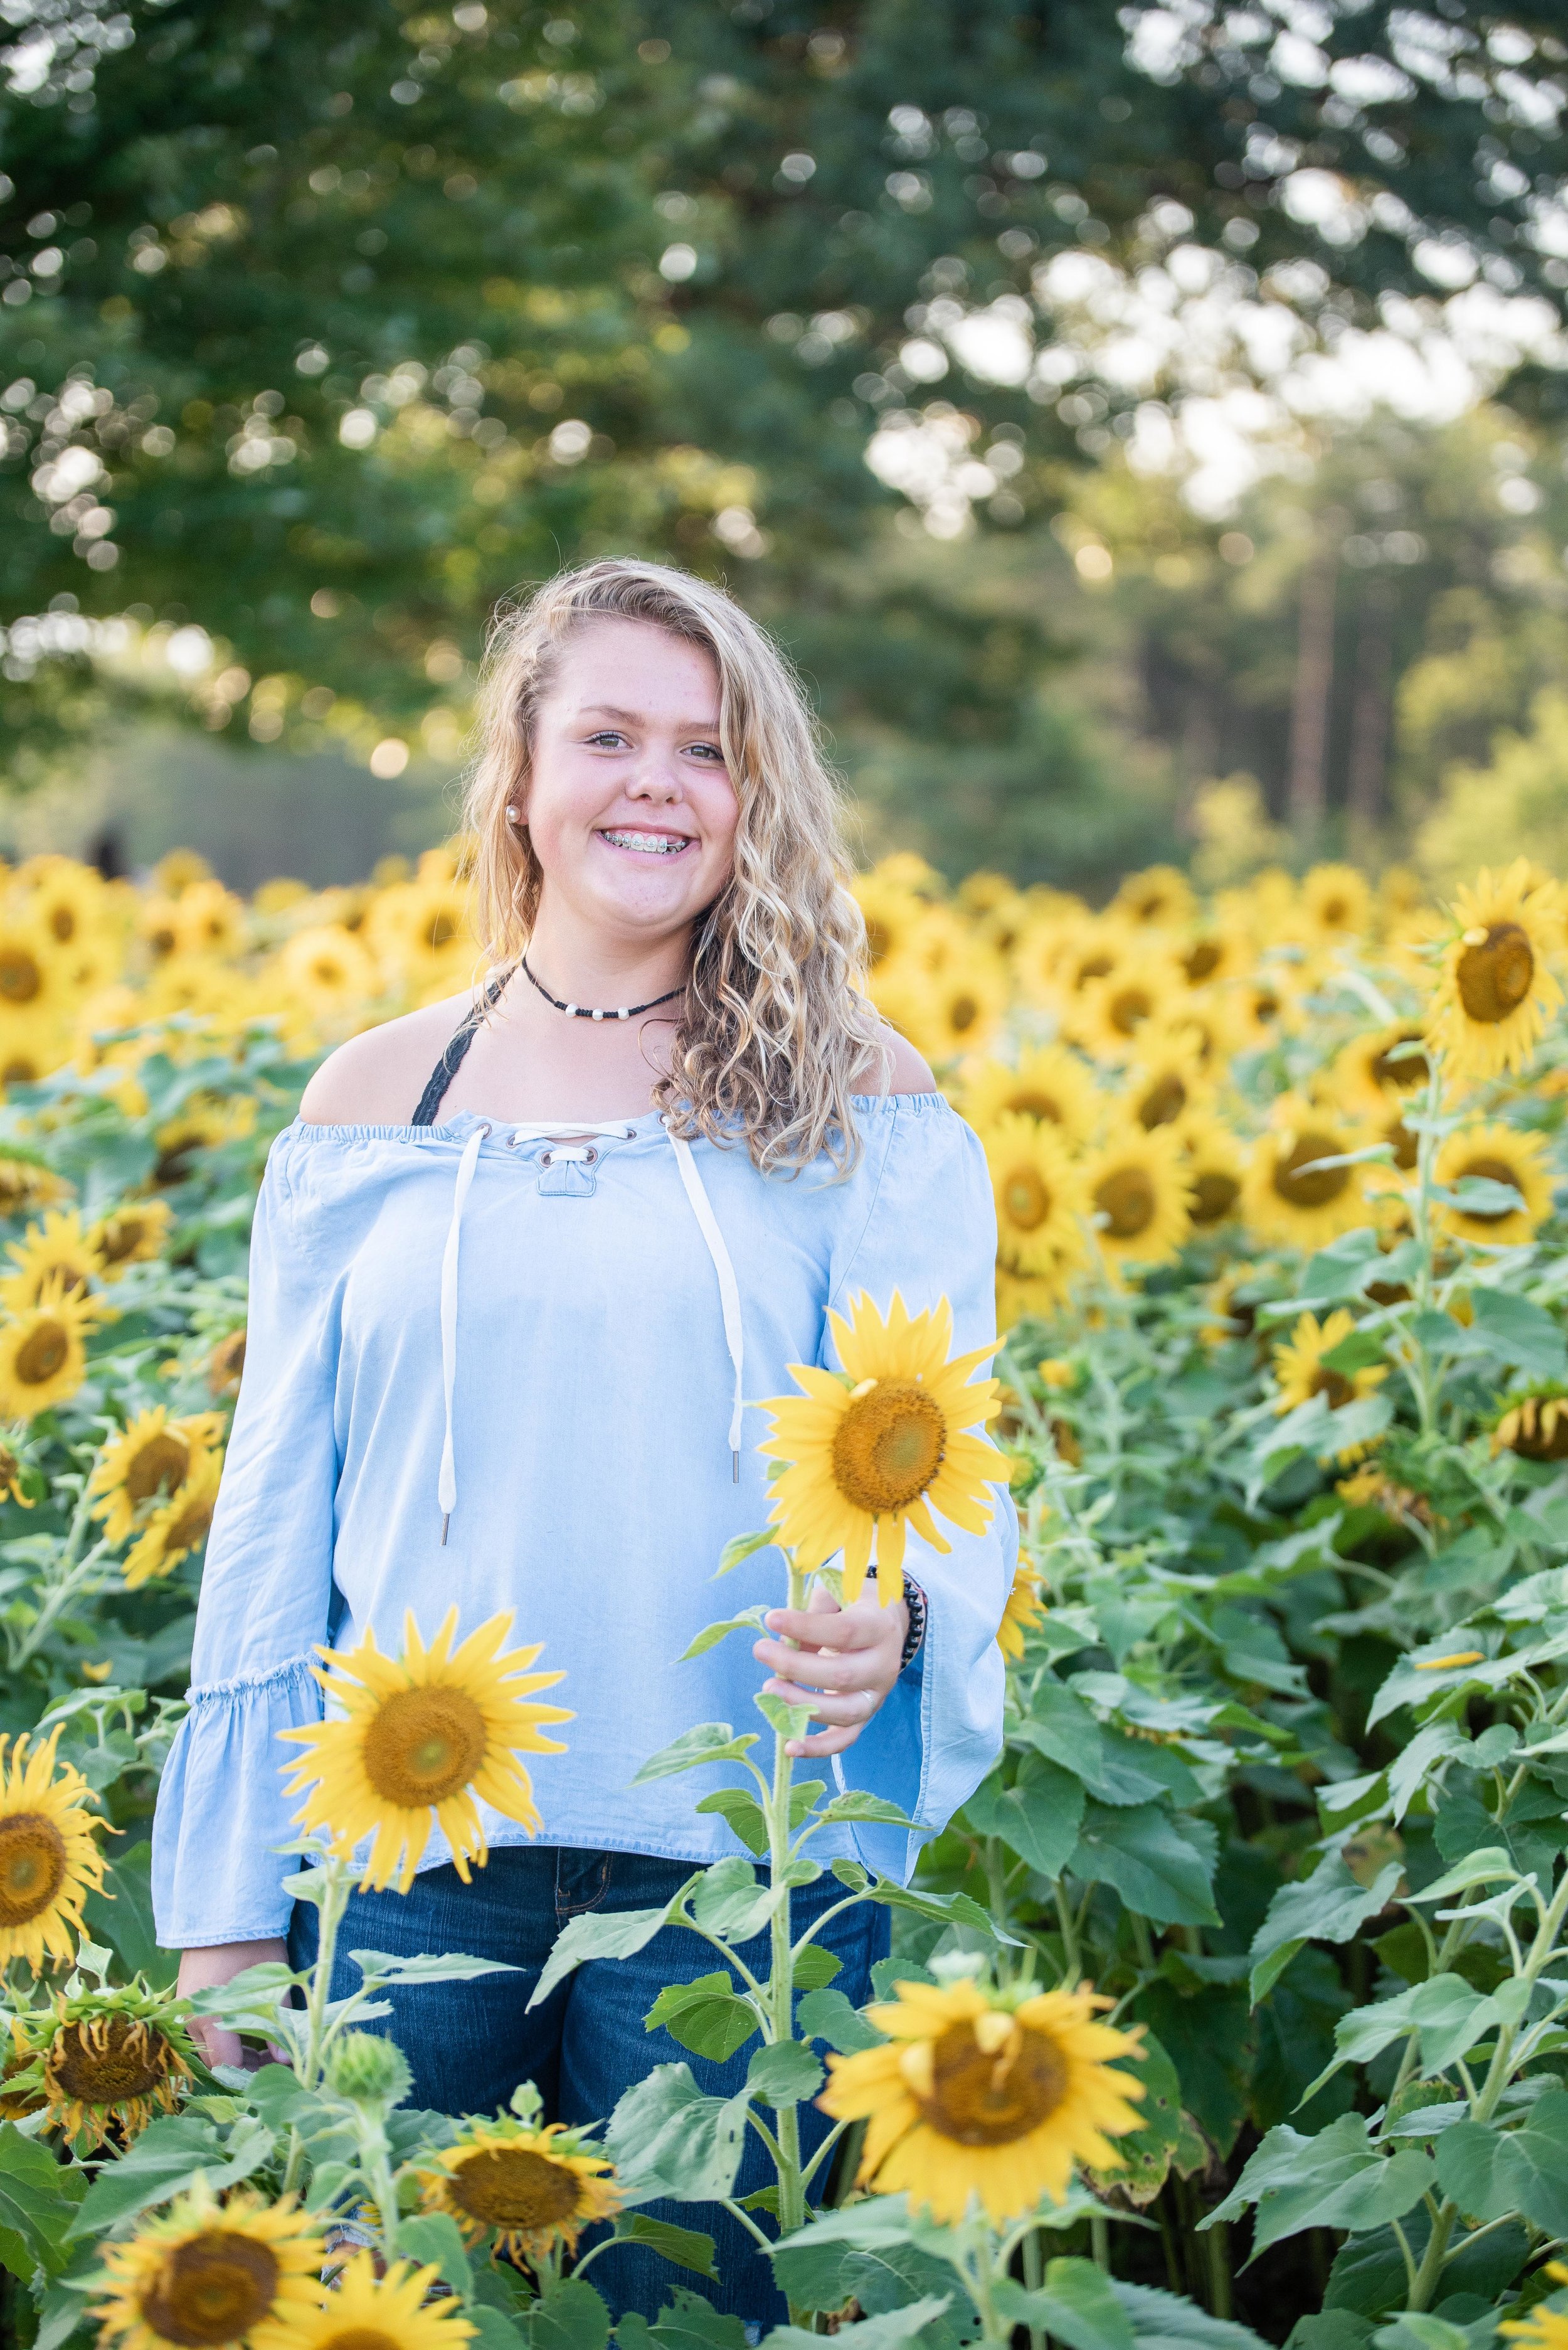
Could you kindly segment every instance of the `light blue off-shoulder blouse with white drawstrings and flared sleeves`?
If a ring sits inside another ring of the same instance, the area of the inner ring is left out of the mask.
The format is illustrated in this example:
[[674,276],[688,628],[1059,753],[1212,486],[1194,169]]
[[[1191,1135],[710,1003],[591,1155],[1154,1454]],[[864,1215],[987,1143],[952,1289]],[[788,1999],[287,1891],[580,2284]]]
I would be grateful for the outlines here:
[[[911,1311],[951,1297],[960,1349],[995,1335],[974,1133],[937,1093],[854,1107],[847,1180],[674,1147],[657,1114],[568,1149],[472,1112],[277,1137],[190,1713],[157,1802],[164,1946],[286,1929],[279,1765],[298,1748],[277,1734],[319,1720],[319,1643],[373,1629],[397,1654],[406,1610],[425,1638],[453,1605],[460,1636],[509,1610],[514,1643],[542,1640],[540,1668],[566,1673],[549,1697],[575,1713],[568,1751],[530,1758],[547,1842],[692,1864],[742,1849],[692,1810],[732,1770],[631,1779],[695,1723],[763,1730],[744,1633],[676,1661],[711,1619],[784,1598],[777,1551],[714,1582],[725,1542],[768,1516],[761,1403],[796,1394],[791,1363],[833,1363],[829,1307],[861,1290],[880,1311],[894,1290]],[[991,1530],[948,1528],[946,1556],[911,1537],[925,1647],[843,1755],[845,1781],[918,1833],[824,1831],[824,1859],[906,1878],[998,1753],[1016,1518],[1005,1483],[993,1497]],[[493,1814],[486,1831],[523,1840]],[[432,1835],[423,1866],[448,1856]]]

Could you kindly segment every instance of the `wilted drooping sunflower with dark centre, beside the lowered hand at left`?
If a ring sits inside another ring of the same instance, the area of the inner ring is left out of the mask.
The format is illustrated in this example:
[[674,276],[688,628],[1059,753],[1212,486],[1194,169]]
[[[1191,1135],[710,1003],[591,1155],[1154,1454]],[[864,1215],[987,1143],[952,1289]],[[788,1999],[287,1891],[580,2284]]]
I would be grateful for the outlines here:
[[45,2129],[61,2129],[77,2157],[129,2143],[155,2113],[174,2113],[192,2080],[183,2009],[141,1976],[120,1990],[56,1993],[54,2007],[33,2009],[21,2028],[47,2106]]

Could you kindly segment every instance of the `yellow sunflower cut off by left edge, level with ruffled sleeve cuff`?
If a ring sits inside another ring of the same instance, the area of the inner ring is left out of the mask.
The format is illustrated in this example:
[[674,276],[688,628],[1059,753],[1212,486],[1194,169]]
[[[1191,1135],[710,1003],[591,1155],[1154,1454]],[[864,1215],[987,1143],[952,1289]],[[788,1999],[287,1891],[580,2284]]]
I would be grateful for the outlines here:
[[0,1737],[0,1967],[33,1972],[75,1955],[82,1901],[103,1889],[103,1854],[87,1805],[87,1781],[70,1762],[56,1772],[59,1727],[28,1753],[26,1734]]

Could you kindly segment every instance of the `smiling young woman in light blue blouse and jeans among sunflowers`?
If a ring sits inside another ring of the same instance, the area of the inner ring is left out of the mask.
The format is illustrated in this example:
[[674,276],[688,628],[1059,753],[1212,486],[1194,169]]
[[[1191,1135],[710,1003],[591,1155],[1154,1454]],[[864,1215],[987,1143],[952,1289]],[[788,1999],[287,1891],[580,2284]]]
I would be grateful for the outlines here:
[[[545,1838],[491,1819],[472,1885],[432,1838],[406,1896],[354,1896],[343,1950],[516,1967],[397,1995],[413,2101],[484,2113],[535,2080],[552,2117],[582,2122],[683,2054],[643,2016],[711,1953],[667,1929],[528,2014],[559,1929],[667,1901],[742,1849],[692,1810],[732,1772],[631,1786],[648,1755],[699,1720],[744,1727],[758,1687],[807,1687],[793,1751],[922,1833],[995,1755],[1005,1488],[988,1535],[915,1546],[908,1605],[815,1591],[751,1652],[674,1661],[714,1614],[779,1591],[768,1551],[714,1591],[723,1544],[768,1513],[753,1405],[796,1391],[791,1363],[833,1361],[829,1307],[861,1290],[883,1314],[894,1290],[911,1311],[946,1295],[955,1344],[988,1342],[995,1227],[974,1135],[857,989],[864,933],[800,691],[721,590],[599,562],[502,620],[467,822],[481,999],[333,1053],[268,1161],[157,1922],[183,1990],[286,1946],[305,1962],[315,1911],[279,1892],[277,1856],[298,1748],[277,1734],[319,1718],[317,1645],[376,1631],[399,1654],[406,1610],[425,1638],[451,1605],[460,1636],[512,1612],[575,1711],[568,1753],[533,1770]],[[901,1831],[829,1833],[824,1859],[913,1866]],[[826,1875],[796,1899],[810,1915],[836,1896]],[[885,1915],[824,1934],[857,2002]],[[239,2059],[216,2028],[207,2044]],[[746,2056],[692,2063],[728,2092]],[[725,2305],[779,2315],[753,2242],[723,2211],[704,2223]],[[669,2270],[627,2247],[596,2277],[655,2315]]]

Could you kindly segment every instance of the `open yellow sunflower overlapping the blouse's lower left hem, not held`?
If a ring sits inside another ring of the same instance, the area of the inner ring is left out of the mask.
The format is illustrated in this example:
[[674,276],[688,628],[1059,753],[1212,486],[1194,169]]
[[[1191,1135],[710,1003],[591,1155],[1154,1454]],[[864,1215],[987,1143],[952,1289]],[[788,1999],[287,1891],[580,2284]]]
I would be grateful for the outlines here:
[[479,1802],[521,1819],[530,1835],[540,1831],[533,1781],[516,1755],[566,1753],[540,1725],[573,1716],[523,1699],[566,1676],[528,1671],[538,1645],[502,1652],[509,1614],[493,1614],[453,1652],[455,1629],[458,1610],[448,1607],[425,1647],[411,1612],[401,1657],[383,1657],[373,1631],[350,1654],[319,1650],[326,1671],[312,1666],[315,1678],[343,1718],[279,1732],[305,1748],[284,1765],[293,1774],[284,1793],[310,1788],[293,1814],[298,1824],[326,1828],[340,1856],[373,1838],[361,1892],[383,1892],[394,1880],[399,1894],[408,1892],[432,1819],[467,1885],[469,1859],[481,1868],[488,1859]]

